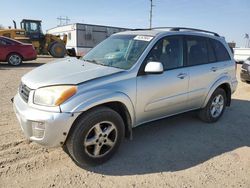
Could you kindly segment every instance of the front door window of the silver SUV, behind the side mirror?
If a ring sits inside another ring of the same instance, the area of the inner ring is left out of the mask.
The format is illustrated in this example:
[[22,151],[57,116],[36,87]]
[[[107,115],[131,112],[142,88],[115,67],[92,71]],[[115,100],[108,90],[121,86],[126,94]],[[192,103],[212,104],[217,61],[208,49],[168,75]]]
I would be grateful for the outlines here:
[[146,61],[161,62],[164,70],[183,67],[182,43],[182,37],[163,38],[150,51]]

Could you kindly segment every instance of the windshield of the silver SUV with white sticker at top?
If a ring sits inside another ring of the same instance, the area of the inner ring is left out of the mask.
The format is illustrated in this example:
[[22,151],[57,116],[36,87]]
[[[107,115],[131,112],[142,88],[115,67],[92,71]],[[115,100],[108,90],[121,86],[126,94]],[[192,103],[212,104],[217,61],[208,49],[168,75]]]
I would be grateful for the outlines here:
[[114,35],[101,42],[81,59],[127,70],[136,63],[152,38],[141,35]]

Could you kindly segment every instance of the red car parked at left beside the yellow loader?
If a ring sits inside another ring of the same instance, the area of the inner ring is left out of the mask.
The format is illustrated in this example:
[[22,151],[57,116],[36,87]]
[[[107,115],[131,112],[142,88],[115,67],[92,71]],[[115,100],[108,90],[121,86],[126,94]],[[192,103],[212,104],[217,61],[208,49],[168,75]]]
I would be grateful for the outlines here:
[[36,50],[32,44],[25,44],[0,36],[0,61],[18,66],[23,61],[34,60],[36,57]]

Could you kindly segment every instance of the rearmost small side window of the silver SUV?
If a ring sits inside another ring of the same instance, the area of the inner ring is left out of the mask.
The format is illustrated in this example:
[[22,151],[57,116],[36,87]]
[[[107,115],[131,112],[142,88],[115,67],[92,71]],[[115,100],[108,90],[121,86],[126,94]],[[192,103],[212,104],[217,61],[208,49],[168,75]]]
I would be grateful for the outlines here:
[[210,39],[212,47],[214,48],[217,61],[228,61],[231,60],[224,45],[214,39]]

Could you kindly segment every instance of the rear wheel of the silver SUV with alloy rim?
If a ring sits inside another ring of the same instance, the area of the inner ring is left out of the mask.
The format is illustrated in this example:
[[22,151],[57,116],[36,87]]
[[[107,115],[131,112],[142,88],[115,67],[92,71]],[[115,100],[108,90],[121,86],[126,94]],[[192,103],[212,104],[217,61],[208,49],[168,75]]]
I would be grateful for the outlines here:
[[199,111],[199,118],[207,123],[218,121],[224,113],[226,103],[227,97],[225,90],[217,88],[210,97],[206,107]]

